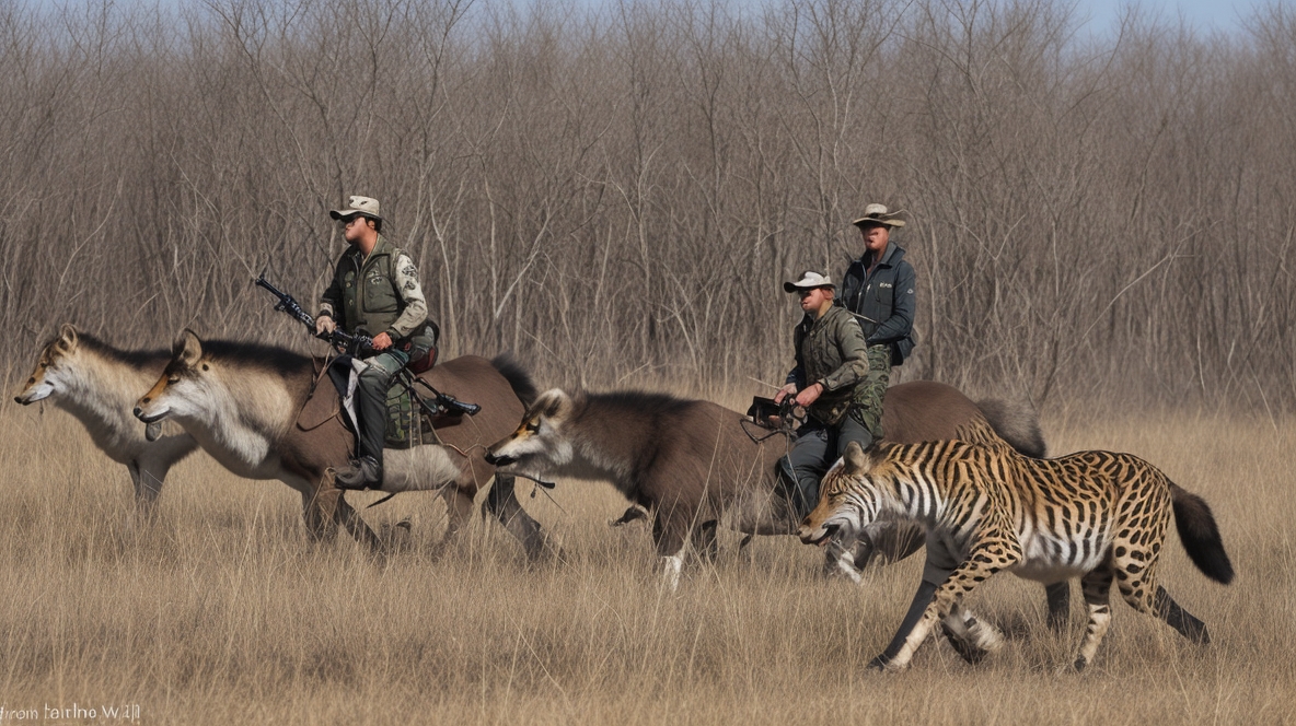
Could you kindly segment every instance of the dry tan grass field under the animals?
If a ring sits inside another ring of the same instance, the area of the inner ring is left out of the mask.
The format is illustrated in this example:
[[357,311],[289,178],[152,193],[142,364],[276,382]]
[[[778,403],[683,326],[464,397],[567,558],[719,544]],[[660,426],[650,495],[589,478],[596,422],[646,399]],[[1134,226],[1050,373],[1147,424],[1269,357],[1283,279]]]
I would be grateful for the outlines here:
[[378,564],[345,538],[308,544],[286,487],[201,453],[140,520],[124,468],[75,421],[0,412],[6,723],[74,704],[100,721],[102,705],[139,705],[148,723],[1278,723],[1296,703],[1290,421],[1046,421],[1055,452],[1137,452],[1213,505],[1236,582],[1208,582],[1178,545],[1164,567],[1210,646],[1116,604],[1095,666],[1064,672],[1080,624],[1051,634],[1042,589],[1002,576],[972,604],[1008,633],[1004,651],[968,666],[929,642],[883,676],[864,664],[898,625],[916,559],[851,586],[820,578],[819,553],[791,537],[737,553],[726,533],[719,559],[667,594],[645,527],[608,528],[625,506],[610,487],[562,483],[552,501],[524,494],[562,563],[529,568],[487,522],[438,554],[442,506],[403,494],[364,512],[415,523]]

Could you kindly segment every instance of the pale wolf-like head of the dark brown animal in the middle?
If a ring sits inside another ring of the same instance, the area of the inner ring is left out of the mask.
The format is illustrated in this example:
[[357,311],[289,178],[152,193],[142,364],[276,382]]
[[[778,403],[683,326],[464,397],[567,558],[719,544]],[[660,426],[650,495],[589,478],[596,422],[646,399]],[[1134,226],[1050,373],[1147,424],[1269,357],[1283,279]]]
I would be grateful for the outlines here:
[[573,443],[566,432],[577,402],[559,388],[540,393],[509,436],[491,444],[486,462],[502,474],[547,480],[553,470],[572,462]]

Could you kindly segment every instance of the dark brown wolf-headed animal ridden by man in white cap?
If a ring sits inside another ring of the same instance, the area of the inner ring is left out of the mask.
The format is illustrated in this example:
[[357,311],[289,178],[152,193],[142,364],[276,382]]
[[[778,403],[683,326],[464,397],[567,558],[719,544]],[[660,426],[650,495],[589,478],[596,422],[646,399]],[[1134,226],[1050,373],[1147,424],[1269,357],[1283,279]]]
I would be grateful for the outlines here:
[[[1028,456],[1045,456],[1033,414],[1019,415],[998,401],[980,406],[943,383],[901,383],[886,391],[883,430],[897,443],[1002,436]],[[674,582],[687,541],[709,551],[721,522],[749,534],[797,529],[787,498],[775,489],[775,462],[787,453],[787,441],[756,441],[744,421],[710,401],[638,391],[569,396],[555,388],[531,404],[512,435],[490,446],[486,461],[500,472],[538,480],[612,481],[653,514],[653,541]],[[863,562],[877,553],[901,559],[923,545],[920,527],[892,524],[850,534],[867,537]],[[1067,585],[1050,590],[1048,599],[1050,621],[1064,621]]]

